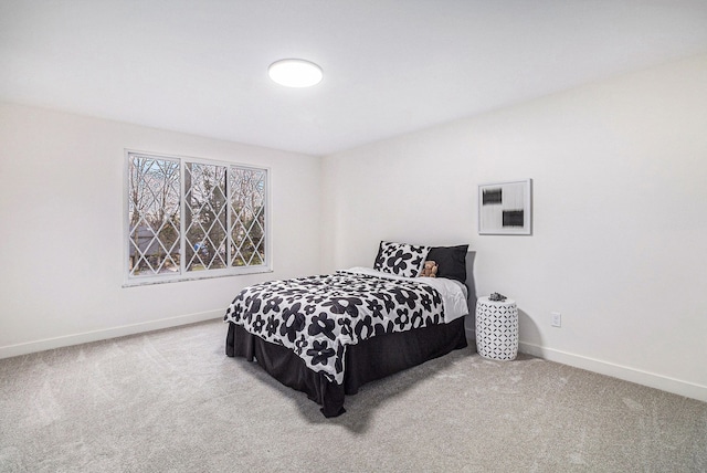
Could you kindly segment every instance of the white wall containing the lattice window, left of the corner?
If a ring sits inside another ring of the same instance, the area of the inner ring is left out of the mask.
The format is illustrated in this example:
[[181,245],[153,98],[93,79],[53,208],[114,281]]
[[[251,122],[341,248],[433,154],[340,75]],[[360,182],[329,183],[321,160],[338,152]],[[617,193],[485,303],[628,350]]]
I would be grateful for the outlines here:
[[[274,272],[124,288],[125,148],[271,168]],[[320,165],[0,104],[0,357],[220,317],[247,284],[317,273]]]

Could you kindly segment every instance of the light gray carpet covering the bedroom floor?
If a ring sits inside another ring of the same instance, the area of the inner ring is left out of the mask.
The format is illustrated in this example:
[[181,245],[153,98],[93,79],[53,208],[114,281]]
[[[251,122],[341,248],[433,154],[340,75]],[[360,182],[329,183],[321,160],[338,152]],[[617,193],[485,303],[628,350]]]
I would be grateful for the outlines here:
[[207,322],[0,360],[2,472],[705,472],[707,403],[458,350],[347,398],[223,355]]

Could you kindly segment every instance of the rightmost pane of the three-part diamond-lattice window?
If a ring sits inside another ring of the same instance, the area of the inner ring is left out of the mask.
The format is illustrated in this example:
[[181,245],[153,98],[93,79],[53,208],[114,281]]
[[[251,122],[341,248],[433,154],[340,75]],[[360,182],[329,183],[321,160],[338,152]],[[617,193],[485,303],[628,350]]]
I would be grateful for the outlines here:
[[263,169],[230,169],[231,235],[233,266],[265,264],[265,196],[267,175]]

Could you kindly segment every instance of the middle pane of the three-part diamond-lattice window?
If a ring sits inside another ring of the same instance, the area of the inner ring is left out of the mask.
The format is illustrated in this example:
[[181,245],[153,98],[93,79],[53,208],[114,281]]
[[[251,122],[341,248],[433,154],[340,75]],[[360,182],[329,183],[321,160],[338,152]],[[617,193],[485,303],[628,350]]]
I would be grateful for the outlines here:
[[226,190],[224,166],[184,166],[186,269],[226,267]]

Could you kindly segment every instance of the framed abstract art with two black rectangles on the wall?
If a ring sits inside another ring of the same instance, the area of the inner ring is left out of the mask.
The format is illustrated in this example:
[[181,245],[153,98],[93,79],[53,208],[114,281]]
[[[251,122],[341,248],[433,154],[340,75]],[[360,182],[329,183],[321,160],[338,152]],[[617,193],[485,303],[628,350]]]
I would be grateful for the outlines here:
[[478,234],[532,234],[532,179],[478,186]]

